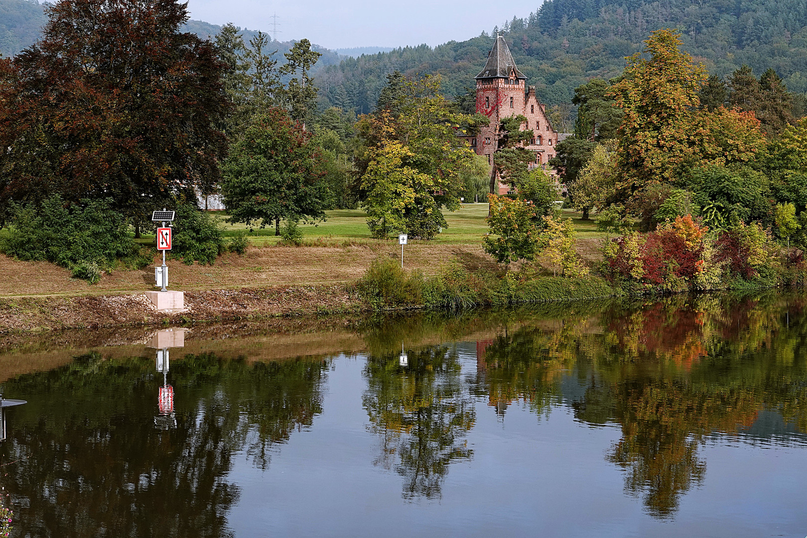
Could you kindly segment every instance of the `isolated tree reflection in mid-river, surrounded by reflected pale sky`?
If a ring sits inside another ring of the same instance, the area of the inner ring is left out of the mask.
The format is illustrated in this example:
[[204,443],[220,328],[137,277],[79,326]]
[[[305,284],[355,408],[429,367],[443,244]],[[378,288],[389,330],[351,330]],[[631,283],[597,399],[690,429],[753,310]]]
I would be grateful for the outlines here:
[[406,366],[397,354],[370,356],[365,375],[362,400],[382,443],[375,463],[403,476],[404,498],[439,497],[449,464],[473,456],[463,438],[476,414],[457,357],[440,346],[409,352]]

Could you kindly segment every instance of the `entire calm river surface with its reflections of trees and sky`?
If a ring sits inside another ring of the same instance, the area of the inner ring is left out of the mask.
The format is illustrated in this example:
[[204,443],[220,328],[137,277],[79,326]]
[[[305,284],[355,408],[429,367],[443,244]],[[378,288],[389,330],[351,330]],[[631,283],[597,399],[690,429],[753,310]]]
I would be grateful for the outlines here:
[[803,538],[805,307],[193,327],[165,375],[144,331],[10,343],[0,486],[13,536]]

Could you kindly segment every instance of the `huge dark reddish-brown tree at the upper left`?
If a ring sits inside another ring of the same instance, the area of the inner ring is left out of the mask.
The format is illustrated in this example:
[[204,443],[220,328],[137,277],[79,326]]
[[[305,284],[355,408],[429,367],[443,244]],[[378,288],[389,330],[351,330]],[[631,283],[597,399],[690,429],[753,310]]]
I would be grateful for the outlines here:
[[112,198],[136,215],[219,181],[228,111],[214,46],[174,0],[62,0],[0,60],[0,211]]

